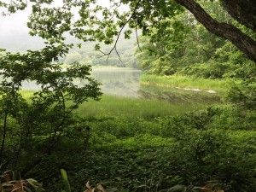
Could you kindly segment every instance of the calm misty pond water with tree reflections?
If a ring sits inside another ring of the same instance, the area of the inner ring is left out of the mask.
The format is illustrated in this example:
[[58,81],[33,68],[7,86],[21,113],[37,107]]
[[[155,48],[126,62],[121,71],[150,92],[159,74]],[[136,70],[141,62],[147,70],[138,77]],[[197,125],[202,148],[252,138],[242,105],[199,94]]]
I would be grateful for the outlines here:
[[[219,96],[204,91],[177,89],[178,87],[159,87],[140,84],[142,72],[128,68],[93,68],[92,77],[100,82],[102,92],[110,96],[125,96],[148,100],[164,100],[180,103],[212,103],[219,102]],[[76,84],[83,85],[79,79]],[[40,87],[33,82],[24,82],[23,90],[38,90]]]

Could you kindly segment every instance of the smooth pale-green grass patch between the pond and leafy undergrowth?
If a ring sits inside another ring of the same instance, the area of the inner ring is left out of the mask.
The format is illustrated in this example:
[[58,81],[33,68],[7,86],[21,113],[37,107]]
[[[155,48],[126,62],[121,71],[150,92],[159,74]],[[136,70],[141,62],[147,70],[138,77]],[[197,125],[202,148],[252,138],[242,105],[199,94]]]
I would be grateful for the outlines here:
[[110,115],[123,118],[154,119],[156,117],[183,114],[204,107],[204,104],[186,105],[183,103],[104,95],[99,102],[89,101],[82,104],[78,109],[78,113],[82,117]]

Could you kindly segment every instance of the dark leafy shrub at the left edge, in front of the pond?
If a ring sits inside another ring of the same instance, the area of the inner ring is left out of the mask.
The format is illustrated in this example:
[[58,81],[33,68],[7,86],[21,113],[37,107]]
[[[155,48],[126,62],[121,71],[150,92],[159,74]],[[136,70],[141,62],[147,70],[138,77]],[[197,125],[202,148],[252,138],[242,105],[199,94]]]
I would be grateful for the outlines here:
[[[31,163],[37,164],[42,155],[51,153],[73,124],[70,120],[73,119],[73,110],[88,98],[98,100],[102,95],[99,84],[90,77],[90,66],[73,63],[64,69],[61,63],[56,62],[60,56],[67,54],[72,45],[54,44],[51,42],[36,51],[27,50],[25,54],[1,52],[2,168],[18,168],[20,160],[33,154],[37,154],[37,158],[32,158]],[[79,86],[74,84],[75,79],[84,79],[86,83]],[[29,101],[20,94],[26,81],[38,86],[38,91]],[[42,148],[34,148],[35,143],[40,143]]]

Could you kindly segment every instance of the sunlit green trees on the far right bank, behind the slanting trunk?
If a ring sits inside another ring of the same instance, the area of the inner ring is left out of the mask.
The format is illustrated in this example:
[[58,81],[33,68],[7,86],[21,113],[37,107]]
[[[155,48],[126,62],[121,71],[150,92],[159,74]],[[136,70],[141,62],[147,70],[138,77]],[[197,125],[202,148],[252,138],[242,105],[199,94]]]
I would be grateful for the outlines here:
[[[216,19],[235,23],[217,2],[202,5]],[[218,16],[215,15],[217,10]],[[161,34],[159,38],[156,38],[156,30],[149,37],[141,38],[141,51],[137,50],[137,60],[139,67],[146,73],[179,73],[206,79],[238,78],[238,73],[235,75],[234,72],[251,65],[234,45],[207,32],[188,12],[176,15],[166,25],[166,30],[170,32]],[[247,33],[254,36],[253,32]]]

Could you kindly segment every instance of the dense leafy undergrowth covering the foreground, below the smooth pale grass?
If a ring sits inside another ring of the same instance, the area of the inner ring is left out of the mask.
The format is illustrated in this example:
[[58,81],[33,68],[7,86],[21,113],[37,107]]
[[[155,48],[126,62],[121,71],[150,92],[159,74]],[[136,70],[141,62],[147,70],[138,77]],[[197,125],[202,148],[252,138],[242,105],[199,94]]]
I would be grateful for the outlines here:
[[86,110],[79,113],[83,120],[73,135],[26,173],[44,181],[48,191],[62,188],[61,168],[72,191],[83,191],[88,180],[119,191],[182,191],[172,187],[193,189],[207,181],[218,182],[224,191],[253,191],[256,186],[252,111],[216,105],[151,119],[133,113],[132,121],[131,112],[126,118],[125,113],[95,118],[86,116]]

